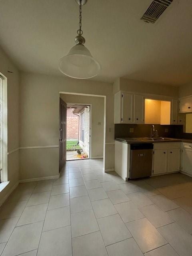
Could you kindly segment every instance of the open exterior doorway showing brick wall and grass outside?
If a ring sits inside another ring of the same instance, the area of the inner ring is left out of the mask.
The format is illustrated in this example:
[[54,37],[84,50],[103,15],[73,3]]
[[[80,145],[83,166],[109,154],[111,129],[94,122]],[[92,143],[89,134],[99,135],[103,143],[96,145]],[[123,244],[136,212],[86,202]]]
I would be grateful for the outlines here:
[[67,104],[66,112],[66,160],[90,158],[91,106]]

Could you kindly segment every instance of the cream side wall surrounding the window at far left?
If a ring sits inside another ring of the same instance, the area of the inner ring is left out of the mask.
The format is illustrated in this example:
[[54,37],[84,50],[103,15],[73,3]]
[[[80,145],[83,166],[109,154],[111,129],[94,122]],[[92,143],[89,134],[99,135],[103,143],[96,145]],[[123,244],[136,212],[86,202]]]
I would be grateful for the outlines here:
[[[11,71],[13,73],[8,72]],[[8,86],[8,180],[10,183],[0,192],[0,203],[19,179],[19,73],[6,54],[0,49],[0,73],[7,78]],[[12,152],[12,150],[15,150]]]

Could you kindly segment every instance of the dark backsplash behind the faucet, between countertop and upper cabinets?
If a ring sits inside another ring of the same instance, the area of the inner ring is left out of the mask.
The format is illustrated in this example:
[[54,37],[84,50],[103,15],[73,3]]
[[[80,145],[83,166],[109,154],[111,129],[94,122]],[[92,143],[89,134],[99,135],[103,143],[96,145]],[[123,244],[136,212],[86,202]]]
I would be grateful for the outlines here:
[[[182,125],[155,124],[154,126],[155,130],[158,130],[158,136],[192,139],[192,134],[183,132]],[[130,132],[132,130],[133,132]],[[142,138],[150,137],[150,134],[151,124],[115,124],[115,138]]]

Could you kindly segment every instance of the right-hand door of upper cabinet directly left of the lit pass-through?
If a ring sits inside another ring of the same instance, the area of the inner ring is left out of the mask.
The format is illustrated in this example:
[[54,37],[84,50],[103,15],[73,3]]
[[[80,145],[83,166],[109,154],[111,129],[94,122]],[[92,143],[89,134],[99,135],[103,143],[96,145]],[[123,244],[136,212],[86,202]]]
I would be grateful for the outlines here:
[[134,123],[144,124],[144,96],[134,95]]

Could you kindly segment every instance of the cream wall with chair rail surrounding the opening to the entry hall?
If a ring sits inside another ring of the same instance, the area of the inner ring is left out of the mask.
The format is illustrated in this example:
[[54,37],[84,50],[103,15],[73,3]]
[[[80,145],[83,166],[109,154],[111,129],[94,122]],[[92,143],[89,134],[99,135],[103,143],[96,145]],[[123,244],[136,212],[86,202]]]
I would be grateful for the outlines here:
[[20,147],[25,148],[20,150],[20,179],[58,174],[58,148],[29,147],[58,146],[59,92],[106,96],[105,169],[114,168],[114,97],[112,90],[112,84],[109,83],[22,72]]

